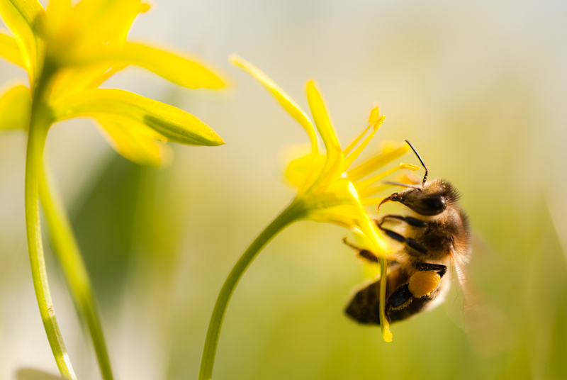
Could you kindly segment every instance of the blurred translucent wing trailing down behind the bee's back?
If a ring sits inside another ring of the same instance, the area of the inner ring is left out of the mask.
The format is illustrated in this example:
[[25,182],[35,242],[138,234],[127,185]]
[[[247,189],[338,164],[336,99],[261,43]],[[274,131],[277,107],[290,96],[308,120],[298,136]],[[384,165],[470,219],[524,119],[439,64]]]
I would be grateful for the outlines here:
[[473,289],[464,267],[451,257],[451,289],[445,298],[447,315],[463,329],[473,350],[494,356],[515,345],[515,335],[503,313]]

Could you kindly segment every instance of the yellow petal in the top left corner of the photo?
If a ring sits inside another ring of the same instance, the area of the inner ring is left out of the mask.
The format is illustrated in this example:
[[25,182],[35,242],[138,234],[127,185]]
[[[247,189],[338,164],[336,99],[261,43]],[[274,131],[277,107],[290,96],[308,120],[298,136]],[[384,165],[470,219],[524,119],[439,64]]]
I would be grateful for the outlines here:
[[40,35],[45,23],[45,10],[37,0],[0,0],[0,14],[18,41],[24,67],[33,83],[38,73],[43,43]]

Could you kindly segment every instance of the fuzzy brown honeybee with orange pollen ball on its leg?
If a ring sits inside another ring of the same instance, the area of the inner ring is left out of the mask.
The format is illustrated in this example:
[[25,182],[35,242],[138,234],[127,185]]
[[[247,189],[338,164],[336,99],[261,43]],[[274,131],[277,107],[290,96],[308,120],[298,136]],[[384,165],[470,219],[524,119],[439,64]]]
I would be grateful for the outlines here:
[[[403,247],[395,259],[388,259],[385,314],[390,323],[443,303],[451,286],[450,277],[461,279],[461,267],[471,255],[468,220],[458,203],[459,193],[445,179],[427,181],[425,163],[413,145],[405,142],[422,163],[425,176],[420,185],[390,182],[406,189],[391,194],[380,206],[388,201],[399,202],[408,213],[386,214],[375,220],[384,235]],[[371,252],[350,246],[358,250],[360,257],[377,261]],[[380,280],[357,291],[345,312],[359,323],[380,325],[379,310]]]

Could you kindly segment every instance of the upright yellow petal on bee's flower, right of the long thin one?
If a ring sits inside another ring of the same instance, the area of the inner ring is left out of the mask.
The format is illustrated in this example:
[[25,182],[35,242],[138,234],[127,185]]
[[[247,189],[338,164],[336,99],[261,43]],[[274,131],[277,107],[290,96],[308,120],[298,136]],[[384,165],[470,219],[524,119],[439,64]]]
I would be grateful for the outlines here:
[[321,173],[320,179],[316,181],[316,186],[322,186],[322,189],[325,189],[325,186],[337,180],[344,172],[344,156],[342,155],[337,135],[335,135],[335,130],[333,130],[327,115],[323,99],[313,81],[309,81],[307,84],[307,100],[317,130],[321,135],[323,143],[325,143],[325,150],[327,150],[325,168]]

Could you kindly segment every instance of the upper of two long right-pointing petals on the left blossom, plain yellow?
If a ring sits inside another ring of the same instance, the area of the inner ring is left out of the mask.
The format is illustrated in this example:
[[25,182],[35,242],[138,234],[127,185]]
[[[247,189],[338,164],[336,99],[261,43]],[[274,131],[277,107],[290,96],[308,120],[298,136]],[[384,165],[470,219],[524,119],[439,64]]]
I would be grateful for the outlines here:
[[89,57],[88,60],[107,62],[108,66],[118,64],[144,67],[170,82],[190,89],[220,89],[225,86],[223,79],[197,60],[140,43],[125,43],[99,56]]

